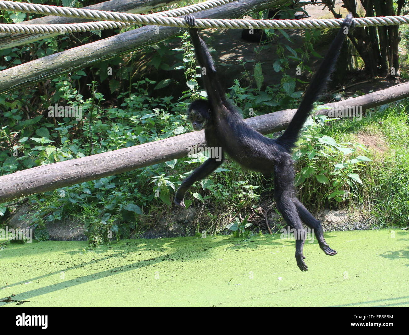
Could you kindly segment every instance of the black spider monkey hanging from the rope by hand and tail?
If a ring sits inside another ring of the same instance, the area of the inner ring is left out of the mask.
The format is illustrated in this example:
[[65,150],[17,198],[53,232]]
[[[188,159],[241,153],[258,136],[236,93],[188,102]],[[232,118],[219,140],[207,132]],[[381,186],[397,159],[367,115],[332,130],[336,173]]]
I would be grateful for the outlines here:
[[189,33],[196,57],[202,68],[202,79],[208,97],[207,100],[196,100],[190,104],[188,108],[189,121],[194,130],[205,129],[207,145],[221,147],[222,157],[219,160],[212,157],[207,159],[183,180],[176,192],[174,203],[180,207],[185,207],[184,195],[189,187],[217,169],[227,153],[245,169],[261,172],[267,177],[274,175],[274,199],[277,208],[285,222],[298,232],[295,242],[295,258],[301,271],[308,270],[304,262],[306,257],[303,256],[306,231],[301,222],[314,229],[319,246],[326,255],[336,255],[337,252],[331,249],[324,239],[321,222],[301,204],[295,195],[295,172],[291,151],[298,140],[304,122],[312,111],[314,102],[326,87],[345,36],[349,28],[353,27],[352,15],[349,14],[342,22],[341,29],[330,45],[327,55],[306,90],[288,128],[276,139],[261,135],[244,122],[236,107],[227,100],[218,80],[209,49],[200,38],[198,29],[193,28],[196,22],[195,17],[185,16],[184,20],[190,27]]

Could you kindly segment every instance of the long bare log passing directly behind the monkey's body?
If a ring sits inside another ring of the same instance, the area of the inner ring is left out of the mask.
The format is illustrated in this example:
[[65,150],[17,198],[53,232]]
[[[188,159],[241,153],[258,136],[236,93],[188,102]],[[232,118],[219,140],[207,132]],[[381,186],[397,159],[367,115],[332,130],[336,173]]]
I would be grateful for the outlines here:
[[[404,83],[357,98],[326,104],[326,106],[330,109],[362,106],[362,110],[366,110],[407,97],[409,97],[409,83]],[[319,109],[316,114],[328,115],[330,109]],[[295,111],[295,109],[287,109],[255,116],[246,119],[246,122],[263,134],[272,133],[285,129]],[[196,131],[4,175],[0,177],[0,203],[182,158],[189,153],[189,148],[196,144],[202,146],[204,143],[204,131]]]

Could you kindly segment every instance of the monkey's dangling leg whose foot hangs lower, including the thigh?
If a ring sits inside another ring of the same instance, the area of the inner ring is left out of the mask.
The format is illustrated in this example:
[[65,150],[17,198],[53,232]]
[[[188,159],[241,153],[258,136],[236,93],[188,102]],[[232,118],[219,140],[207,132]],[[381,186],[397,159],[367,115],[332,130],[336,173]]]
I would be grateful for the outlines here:
[[297,231],[295,240],[295,259],[301,271],[307,271],[308,266],[304,262],[303,246],[306,231],[303,229],[297,207],[294,204],[294,168],[288,159],[280,162],[274,168],[274,199],[277,208],[287,224]]

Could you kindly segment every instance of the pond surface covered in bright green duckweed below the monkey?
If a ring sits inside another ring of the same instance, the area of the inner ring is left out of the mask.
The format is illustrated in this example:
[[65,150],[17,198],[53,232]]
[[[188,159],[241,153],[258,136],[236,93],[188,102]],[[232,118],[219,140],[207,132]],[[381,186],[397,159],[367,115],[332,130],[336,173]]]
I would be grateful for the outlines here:
[[325,233],[338,255],[280,235],[7,244],[0,306],[409,306],[409,232]]

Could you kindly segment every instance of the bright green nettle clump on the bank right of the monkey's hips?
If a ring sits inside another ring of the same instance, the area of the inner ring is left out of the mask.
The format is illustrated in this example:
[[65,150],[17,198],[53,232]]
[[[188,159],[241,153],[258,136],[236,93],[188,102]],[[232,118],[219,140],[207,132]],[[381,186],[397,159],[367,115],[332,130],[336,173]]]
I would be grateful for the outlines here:
[[317,181],[328,185],[328,199],[342,202],[356,196],[353,189],[363,184],[358,171],[361,171],[366,162],[372,160],[357,154],[358,148],[368,151],[364,146],[350,142],[337,143],[334,138],[320,133],[324,124],[332,120],[337,119],[317,115],[306,122],[306,132],[300,139],[300,149],[293,155],[293,159],[303,166],[297,173],[295,185],[299,186],[308,181],[314,184]]

